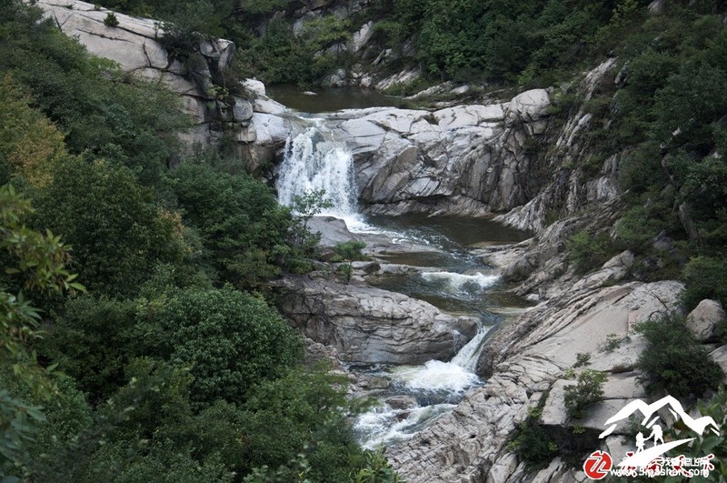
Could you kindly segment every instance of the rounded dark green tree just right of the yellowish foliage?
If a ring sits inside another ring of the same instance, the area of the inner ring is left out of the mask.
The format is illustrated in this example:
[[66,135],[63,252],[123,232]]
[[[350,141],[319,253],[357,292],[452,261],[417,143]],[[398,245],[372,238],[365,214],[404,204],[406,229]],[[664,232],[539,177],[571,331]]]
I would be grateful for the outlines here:
[[87,287],[134,294],[160,263],[184,257],[181,226],[154,206],[124,166],[70,158],[39,193],[36,224],[74,246],[73,265]]

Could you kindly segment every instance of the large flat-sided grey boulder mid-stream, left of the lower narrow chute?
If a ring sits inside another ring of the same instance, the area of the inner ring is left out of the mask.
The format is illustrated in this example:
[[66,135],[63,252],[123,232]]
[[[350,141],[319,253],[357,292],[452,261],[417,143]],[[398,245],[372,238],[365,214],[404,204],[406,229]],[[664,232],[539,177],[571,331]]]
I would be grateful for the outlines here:
[[284,314],[305,337],[334,347],[344,361],[411,365],[447,361],[472,337],[468,317],[448,316],[395,292],[311,277],[282,283]]

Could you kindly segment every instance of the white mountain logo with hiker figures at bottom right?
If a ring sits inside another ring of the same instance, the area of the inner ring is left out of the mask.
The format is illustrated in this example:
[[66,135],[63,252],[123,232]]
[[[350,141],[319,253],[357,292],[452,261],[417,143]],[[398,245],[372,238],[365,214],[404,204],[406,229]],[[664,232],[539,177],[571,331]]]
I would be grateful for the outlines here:
[[[690,441],[693,441],[694,438],[686,438],[686,439],[678,439],[676,441],[670,441],[668,443],[664,443],[663,438],[663,432],[662,427],[658,424],[655,424],[656,421],[659,420],[659,415],[657,415],[655,418],[652,418],[653,414],[656,413],[659,409],[667,407],[669,411],[672,413],[672,416],[676,420],[682,420],[684,425],[686,425],[688,428],[692,429],[695,433],[702,436],[702,433],[704,433],[707,428],[712,430],[712,432],[715,435],[720,434],[720,427],[717,426],[717,423],[714,422],[714,419],[712,419],[709,416],[704,416],[702,418],[692,418],[689,416],[685,411],[684,408],[682,408],[682,404],[677,401],[674,397],[667,396],[662,397],[662,399],[659,399],[656,402],[653,402],[652,404],[647,404],[643,402],[641,399],[637,399],[635,401],[632,401],[631,403],[627,404],[624,408],[622,408],[618,413],[616,413],[615,416],[610,418],[608,421],[606,421],[603,426],[609,426],[603,433],[599,435],[599,438],[606,438],[609,436],[613,430],[616,429],[616,426],[618,422],[628,419],[630,416],[632,416],[636,411],[640,411],[643,415],[642,419],[642,426],[645,426],[646,428],[651,428],[652,433],[647,437],[644,438],[642,433],[639,433],[636,436],[636,453],[632,456],[625,458],[620,464],[620,467],[626,467],[626,468],[645,468],[649,465],[649,463],[654,459],[662,456],[662,454],[666,453],[670,449],[680,447],[686,443],[689,443]],[[653,447],[646,449],[646,441],[653,438]]]

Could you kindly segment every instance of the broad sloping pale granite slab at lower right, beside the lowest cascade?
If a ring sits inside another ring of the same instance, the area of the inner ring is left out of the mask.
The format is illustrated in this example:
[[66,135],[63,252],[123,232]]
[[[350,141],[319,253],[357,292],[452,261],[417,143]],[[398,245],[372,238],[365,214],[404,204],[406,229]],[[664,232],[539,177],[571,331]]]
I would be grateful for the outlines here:
[[[614,408],[642,397],[635,375],[615,374],[621,369],[614,367],[622,361],[600,351],[610,334],[626,337],[634,324],[675,309],[681,288],[677,282],[634,282],[566,290],[500,327],[487,339],[480,360],[481,373],[489,376],[485,385],[471,391],[451,415],[390,448],[394,468],[413,482],[528,479],[523,463],[507,447],[528,410],[553,389],[545,403],[544,423],[567,428],[562,393],[573,380],[566,379],[564,372],[578,353],[591,353],[593,367],[614,372],[604,387],[606,399],[580,422],[587,431],[601,428]],[[637,354],[641,344],[632,337],[619,350]],[[541,473],[536,478],[543,481],[583,479],[582,473],[565,468],[559,458]]]

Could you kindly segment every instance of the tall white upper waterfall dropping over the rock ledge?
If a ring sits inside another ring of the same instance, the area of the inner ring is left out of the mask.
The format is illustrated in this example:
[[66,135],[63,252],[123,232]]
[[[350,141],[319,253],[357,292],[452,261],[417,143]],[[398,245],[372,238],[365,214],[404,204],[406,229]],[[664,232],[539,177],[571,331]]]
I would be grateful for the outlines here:
[[278,201],[292,206],[294,196],[321,189],[334,205],[322,215],[358,218],[354,157],[344,142],[334,140],[331,131],[318,124],[294,138],[288,137],[278,180]]

